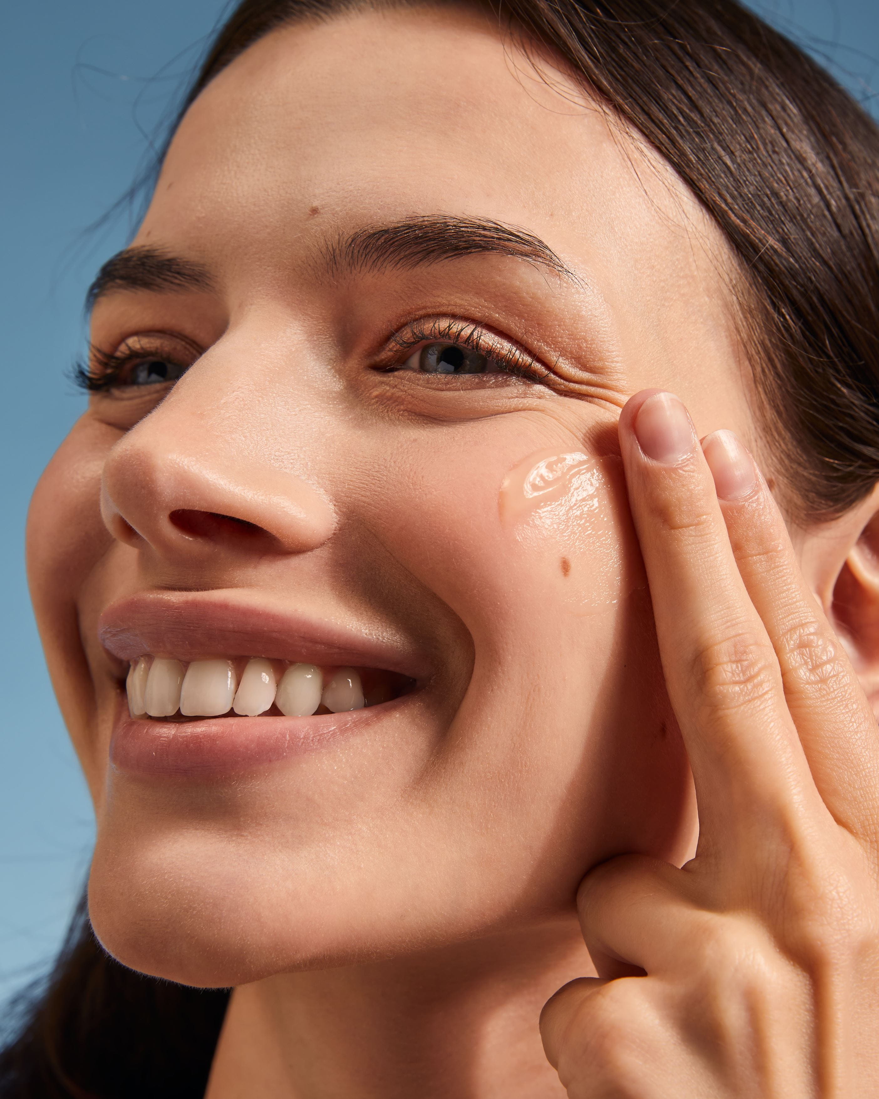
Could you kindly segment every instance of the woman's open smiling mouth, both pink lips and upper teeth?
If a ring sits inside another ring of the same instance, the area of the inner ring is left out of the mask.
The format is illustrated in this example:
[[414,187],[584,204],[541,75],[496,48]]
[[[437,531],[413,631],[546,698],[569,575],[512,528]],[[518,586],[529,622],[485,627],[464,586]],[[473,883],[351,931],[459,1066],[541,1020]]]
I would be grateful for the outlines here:
[[[397,637],[235,593],[142,593],[108,608],[98,634],[129,665],[111,762],[140,774],[219,776],[324,745],[430,674]],[[242,648],[254,655],[214,655]]]

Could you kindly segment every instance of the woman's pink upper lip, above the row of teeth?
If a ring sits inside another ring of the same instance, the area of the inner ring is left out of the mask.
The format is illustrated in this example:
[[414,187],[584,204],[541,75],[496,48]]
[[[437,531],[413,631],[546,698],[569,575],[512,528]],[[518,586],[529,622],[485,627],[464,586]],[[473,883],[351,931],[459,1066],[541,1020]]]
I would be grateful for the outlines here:
[[396,631],[279,611],[235,591],[130,596],[104,610],[98,620],[98,637],[121,660],[146,653],[180,660],[266,656],[382,668],[412,679],[424,679],[431,670],[424,655]]

